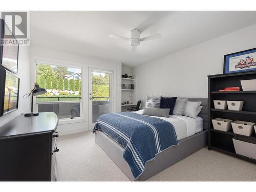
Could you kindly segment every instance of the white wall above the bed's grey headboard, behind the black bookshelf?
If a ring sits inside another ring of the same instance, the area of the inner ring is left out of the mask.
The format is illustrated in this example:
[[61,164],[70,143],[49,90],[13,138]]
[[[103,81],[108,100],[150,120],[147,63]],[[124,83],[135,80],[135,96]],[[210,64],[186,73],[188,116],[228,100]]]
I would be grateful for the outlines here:
[[255,34],[256,25],[252,25],[133,68],[137,99],[207,97],[207,75],[223,73],[225,54],[255,48]]

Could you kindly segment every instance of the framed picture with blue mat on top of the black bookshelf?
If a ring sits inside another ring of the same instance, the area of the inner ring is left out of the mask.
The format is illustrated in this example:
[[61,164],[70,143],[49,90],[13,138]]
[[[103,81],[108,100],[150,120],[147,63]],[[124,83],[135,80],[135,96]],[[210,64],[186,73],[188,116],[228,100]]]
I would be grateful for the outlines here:
[[223,73],[239,73],[256,70],[256,48],[224,55]]

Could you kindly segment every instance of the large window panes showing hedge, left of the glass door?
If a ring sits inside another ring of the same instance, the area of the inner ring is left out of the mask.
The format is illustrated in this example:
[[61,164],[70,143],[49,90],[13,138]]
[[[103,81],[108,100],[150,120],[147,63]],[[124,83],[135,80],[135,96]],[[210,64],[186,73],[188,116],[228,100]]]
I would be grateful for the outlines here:
[[79,68],[36,63],[36,82],[47,90],[36,97],[38,112],[55,112],[59,119],[80,117],[81,76]]

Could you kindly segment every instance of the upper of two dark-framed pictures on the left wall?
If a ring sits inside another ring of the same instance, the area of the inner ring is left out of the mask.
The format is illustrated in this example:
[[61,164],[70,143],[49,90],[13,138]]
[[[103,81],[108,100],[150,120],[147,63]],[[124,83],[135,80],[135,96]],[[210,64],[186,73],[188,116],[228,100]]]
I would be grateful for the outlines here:
[[[7,32],[6,32],[7,31]],[[11,34],[13,38],[5,38],[5,34]],[[18,73],[18,44],[6,43],[6,41],[16,41],[15,36],[10,29],[5,25],[3,19],[0,19],[0,65],[5,69],[15,74]]]

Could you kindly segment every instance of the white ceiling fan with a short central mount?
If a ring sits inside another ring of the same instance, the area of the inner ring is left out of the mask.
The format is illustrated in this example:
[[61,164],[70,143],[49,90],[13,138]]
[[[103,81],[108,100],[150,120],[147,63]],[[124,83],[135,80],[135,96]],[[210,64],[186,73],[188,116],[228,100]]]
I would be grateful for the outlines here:
[[158,39],[158,38],[162,37],[160,33],[157,33],[155,35],[140,38],[140,34],[141,34],[140,30],[134,29],[131,31],[130,38],[119,36],[119,35],[113,35],[113,34],[110,34],[109,36],[118,38],[118,39],[122,39],[125,41],[129,41],[130,45],[132,46],[132,52],[136,52],[137,46],[140,45],[141,41],[153,40],[153,39]]

